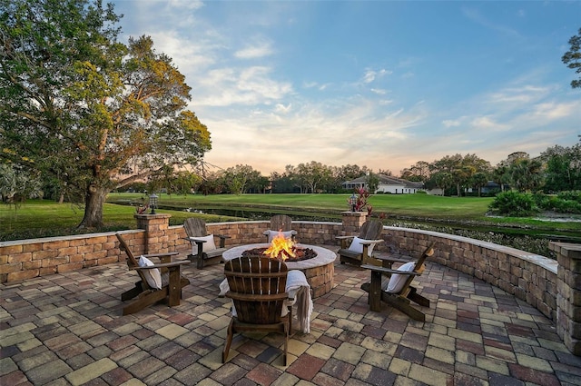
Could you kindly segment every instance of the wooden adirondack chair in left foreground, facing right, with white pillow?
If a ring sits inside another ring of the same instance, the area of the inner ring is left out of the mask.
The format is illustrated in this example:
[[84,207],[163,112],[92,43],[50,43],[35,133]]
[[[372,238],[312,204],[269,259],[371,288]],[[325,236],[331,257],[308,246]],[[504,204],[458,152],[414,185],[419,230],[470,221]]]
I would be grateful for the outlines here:
[[[189,264],[190,262],[187,260],[172,262],[172,256],[175,256],[178,252],[150,253],[143,256],[147,259],[158,258],[162,263],[140,266],[138,259],[133,256],[133,252],[129,249],[127,242],[123,240],[123,236],[120,233],[116,233],[116,236],[117,240],[119,240],[119,249],[127,255],[127,266],[130,270],[137,271],[141,279],[139,282],[135,282],[135,287],[121,294],[123,302],[136,298],[133,302],[123,307],[123,315],[139,312],[145,307],[163,300],[167,300],[170,307],[179,305],[180,299],[182,299],[182,288],[190,283],[188,279],[182,276],[180,269],[183,264]],[[151,285],[153,270],[161,271],[159,273],[161,279],[160,289]]]

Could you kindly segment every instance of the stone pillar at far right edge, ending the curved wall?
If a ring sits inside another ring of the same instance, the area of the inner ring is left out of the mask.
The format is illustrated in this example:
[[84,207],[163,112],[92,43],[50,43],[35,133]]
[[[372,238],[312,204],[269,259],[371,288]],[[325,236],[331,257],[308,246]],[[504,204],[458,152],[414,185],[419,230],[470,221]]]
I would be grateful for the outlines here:
[[556,252],[556,333],[581,356],[581,244],[550,242]]

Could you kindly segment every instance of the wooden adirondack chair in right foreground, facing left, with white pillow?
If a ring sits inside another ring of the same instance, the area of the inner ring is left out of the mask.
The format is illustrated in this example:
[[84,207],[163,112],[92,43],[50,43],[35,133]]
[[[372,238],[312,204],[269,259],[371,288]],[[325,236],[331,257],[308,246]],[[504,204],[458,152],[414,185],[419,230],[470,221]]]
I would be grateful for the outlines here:
[[[435,242],[431,242],[426,250],[421,254],[417,262],[408,262],[410,271],[393,270],[382,266],[364,264],[361,268],[371,271],[371,282],[361,285],[361,289],[369,292],[369,309],[371,311],[381,311],[381,301],[407,314],[410,318],[426,322],[426,314],[411,306],[410,302],[415,302],[421,306],[429,307],[429,300],[421,296],[415,287],[411,286],[414,277],[420,275],[423,270],[423,264],[434,254]],[[389,258],[382,259],[389,260]],[[399,259],[394,260],[400,262]],[[382,276],[388,275],[389,281],[382,283]]]

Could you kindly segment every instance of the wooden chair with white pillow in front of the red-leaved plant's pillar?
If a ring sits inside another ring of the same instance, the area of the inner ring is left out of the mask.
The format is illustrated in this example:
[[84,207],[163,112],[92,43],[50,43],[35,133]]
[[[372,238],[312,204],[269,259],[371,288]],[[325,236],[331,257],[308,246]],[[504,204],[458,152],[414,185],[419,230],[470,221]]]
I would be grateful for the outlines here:
[[366,263],[371,257],[373,247],[383,240],[379,239],[383,232],[383,224],[379,220],[368,220],[359,230],[359,235],[355,236],[337,236],[340,240],[340,250],[337,252],[340,256],[340,263],[350,262],[351,264],[361,265]]

